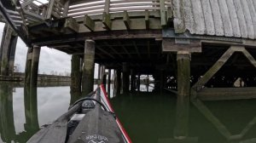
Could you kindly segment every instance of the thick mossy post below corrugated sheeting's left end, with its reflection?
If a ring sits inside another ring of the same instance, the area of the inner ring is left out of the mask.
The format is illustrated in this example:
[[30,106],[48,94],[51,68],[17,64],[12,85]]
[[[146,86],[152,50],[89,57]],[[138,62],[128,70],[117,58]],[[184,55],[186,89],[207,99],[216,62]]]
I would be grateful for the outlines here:
[[188,136],[190,94],[190,54],[188,51],[177,52],[177,113],[174,138]]

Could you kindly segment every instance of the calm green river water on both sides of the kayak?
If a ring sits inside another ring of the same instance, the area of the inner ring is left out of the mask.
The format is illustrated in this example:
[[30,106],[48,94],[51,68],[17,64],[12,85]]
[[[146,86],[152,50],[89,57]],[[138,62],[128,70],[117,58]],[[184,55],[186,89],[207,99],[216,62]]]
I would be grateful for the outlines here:
[[[133,142],[256,142],[256,100],[200,101],[199,106],[183,106],[174,94],[152,89],[147,92],[141,85],[142,92],[111,99]],[[78,98],[70,94],[68,86],[37,88],[30,93],[11,83],[0,84],[0,142],[26,142],[44,124],[67,112]]]

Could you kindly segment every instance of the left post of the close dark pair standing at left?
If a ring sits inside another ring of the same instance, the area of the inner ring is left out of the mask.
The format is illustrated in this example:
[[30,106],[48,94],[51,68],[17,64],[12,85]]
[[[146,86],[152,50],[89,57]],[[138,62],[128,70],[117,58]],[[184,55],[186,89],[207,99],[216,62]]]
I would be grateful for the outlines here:
[[30,85],[31,77],[31,64],[32,64],[32,48],[27,49],[26,54],[26,67],[25,67],[25,85]]

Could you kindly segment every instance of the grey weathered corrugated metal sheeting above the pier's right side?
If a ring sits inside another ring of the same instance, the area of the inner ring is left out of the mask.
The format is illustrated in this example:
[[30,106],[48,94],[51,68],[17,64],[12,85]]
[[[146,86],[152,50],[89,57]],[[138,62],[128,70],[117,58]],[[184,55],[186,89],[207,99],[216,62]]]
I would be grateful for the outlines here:
[[256,0],[173,0],[177,33],[256,39]]

